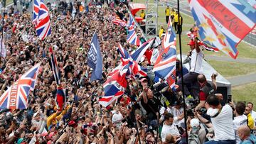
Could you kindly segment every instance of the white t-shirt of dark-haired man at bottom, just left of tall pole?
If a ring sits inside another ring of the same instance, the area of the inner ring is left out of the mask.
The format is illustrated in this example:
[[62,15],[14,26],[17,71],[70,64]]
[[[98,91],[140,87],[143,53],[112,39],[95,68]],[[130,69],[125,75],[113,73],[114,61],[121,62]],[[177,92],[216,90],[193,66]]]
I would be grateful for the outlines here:
[[180,136],[180,134],[178,133],[178,128],[174,125],[174,123],[171,126],[169,126],[169,125],[166,125],[164,122],[162,131],[161,131],[161,139],[163,142],[165,142],[165,138],[168,133],[174,136]]

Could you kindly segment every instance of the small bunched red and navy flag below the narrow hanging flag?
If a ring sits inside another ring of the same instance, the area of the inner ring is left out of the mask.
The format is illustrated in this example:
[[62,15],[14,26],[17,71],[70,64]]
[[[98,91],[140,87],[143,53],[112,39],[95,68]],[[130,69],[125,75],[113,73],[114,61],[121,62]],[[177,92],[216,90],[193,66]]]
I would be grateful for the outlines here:
[[62,111],[63,108],[65,107],[66,95],[65,95],[65,90],[61,85],[58,85],[57,87],[57,94],[56,94],[55,101],[57,104],[58,111]]

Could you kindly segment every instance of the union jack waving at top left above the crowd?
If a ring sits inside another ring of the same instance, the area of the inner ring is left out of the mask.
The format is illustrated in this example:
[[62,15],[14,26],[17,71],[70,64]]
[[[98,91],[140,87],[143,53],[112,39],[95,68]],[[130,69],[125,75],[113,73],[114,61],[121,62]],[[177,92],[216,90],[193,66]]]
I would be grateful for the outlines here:
[[50,35],[51,28],[49,11],[47,6],[43,3],[43,0],[34,0],[33,23],[36,27],[36,33],[41,40]]

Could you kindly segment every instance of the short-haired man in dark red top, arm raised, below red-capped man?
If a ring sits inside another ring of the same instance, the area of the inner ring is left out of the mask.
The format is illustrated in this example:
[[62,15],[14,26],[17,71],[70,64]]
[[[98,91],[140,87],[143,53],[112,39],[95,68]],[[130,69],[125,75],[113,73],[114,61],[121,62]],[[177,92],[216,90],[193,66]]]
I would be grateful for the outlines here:
[[198,83],[200,84],[199,100],[200,103],[196,106],[196,110],[205,107],[206,99],[208,96],[213,95],[217,89],[216,84],[217,74],[212,74],[212,83],[207,82],[204,74],[198,75]]

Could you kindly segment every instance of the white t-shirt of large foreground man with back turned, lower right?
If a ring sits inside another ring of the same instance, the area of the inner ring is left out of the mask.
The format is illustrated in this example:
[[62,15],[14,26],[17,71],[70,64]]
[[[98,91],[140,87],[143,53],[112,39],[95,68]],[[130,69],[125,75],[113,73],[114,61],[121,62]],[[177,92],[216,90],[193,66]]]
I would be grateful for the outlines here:
[[[216,109],[209,108],[207,114],[212,116]],[[235,140],[235,131],[233,128],[233,110],[227,104],[215,118],[210,118],[213,124],[215,141]]]

